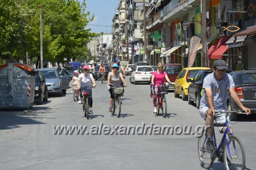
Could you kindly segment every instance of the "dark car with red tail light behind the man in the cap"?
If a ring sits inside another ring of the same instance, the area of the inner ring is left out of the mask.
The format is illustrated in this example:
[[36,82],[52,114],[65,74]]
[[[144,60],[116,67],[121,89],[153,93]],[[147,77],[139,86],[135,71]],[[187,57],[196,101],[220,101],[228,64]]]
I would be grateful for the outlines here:
[[[256,70],[233,71],[229,73],[234,80],[235,91],[244,107],[250,108],[256,113]],[[241,110],[228,90],[228,110]],[[237,120],[238,114],[231,114],[231,120]]]

